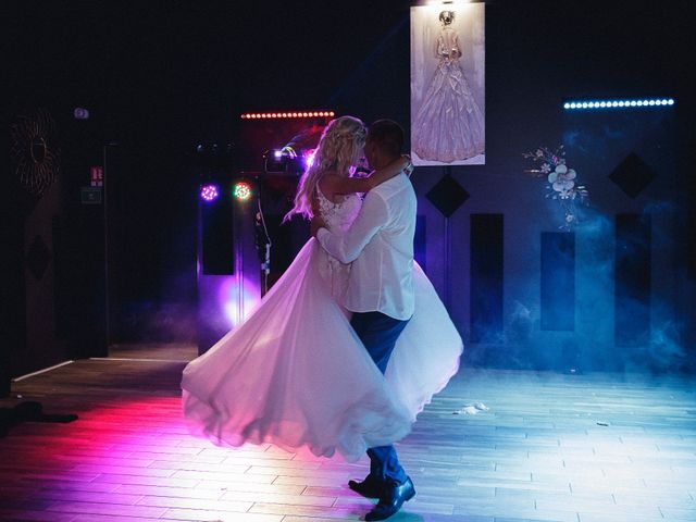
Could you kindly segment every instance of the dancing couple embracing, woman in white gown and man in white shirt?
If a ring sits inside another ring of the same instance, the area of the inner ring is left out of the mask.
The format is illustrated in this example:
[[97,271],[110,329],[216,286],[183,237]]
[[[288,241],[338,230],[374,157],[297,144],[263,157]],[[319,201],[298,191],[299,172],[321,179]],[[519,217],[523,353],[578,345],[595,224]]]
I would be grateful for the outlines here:
[[[461,337],[413,260],[415,192],[403,130],[330,122],[288,213],[313,237],[247,320],[184,370],[191,430],[219,445],[272,443],[348,461],[384,520],[415,495],[393,446],[459,368]],[[351,177],[360,159],[374,171]],[[360,196],[364,194],[364,199]]]

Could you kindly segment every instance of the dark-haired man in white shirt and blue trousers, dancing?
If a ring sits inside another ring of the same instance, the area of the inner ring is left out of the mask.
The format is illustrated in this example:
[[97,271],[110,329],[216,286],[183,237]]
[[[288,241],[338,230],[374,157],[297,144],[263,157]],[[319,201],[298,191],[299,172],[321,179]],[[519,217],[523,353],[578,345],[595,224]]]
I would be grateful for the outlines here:
[[[365,139],[365,158],[372,169],[399,159],[403,129],[390,120],[373,123]],[[413,315],[413,234],[415,192],[406,173],[376,186],[365,196],[358,217],[343,234],[312,220],[312,235],[343,263],[351,263],[344,306],[351,325],[377,368],[384,373],[396,339]],[[399,463],[394,446],[368,449],[370,473],[348,486],[362,496],[378,498],[365,520],[384,520],[415,495],[413,483]]]

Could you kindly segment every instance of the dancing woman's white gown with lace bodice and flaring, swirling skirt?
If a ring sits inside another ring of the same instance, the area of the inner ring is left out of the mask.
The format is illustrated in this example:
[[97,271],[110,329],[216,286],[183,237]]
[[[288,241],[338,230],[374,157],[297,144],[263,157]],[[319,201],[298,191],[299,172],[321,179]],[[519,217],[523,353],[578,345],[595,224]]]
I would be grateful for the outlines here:
[[[327,227],[346,229],[361,199],[320,203]],[[349,461],[406,436],[457,372],[461,337],[415,264],[415,313],[382,375],[338,304],[349,275],[350,265],[310,239],[247,320],[184,370],[191,432],[219,445],[307,446]]]

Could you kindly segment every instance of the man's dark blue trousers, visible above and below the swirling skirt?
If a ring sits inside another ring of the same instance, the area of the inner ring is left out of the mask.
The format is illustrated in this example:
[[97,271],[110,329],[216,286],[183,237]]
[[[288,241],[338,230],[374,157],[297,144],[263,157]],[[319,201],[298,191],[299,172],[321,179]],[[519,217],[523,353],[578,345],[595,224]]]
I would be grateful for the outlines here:
[[[382,373],[387,369],[389,357],[409,321],[385,315],[382,312],[353,312],[351,326],[362,340],[377,368]],[[397,484],[406,482],[407,475],[399,463],[394,446],[377,446],[368,449],[370,457],[370,475],[381,482],[387,480]]]

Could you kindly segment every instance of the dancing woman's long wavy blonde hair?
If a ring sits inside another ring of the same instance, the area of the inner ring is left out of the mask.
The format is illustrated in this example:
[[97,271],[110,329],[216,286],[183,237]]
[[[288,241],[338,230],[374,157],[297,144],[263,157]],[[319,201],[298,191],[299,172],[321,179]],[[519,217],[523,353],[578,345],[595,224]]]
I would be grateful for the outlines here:
[[341,116],[328,122],[319,140],[314,161],[300,177],[295,206],[283,221],[295,214],[312,219],[312,198],[316,194],[316,184],[330,172],[347,176],[350,166],[358,160],[358,151],[365,145],[366,134],[364,123],[353,116]]

